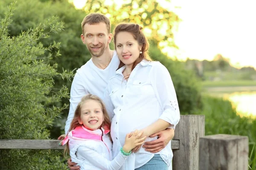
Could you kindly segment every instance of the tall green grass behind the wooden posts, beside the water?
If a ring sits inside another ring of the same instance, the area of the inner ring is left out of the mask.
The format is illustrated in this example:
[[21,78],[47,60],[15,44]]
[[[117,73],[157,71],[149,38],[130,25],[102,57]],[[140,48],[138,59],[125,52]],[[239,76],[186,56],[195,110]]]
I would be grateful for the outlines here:
[[205,115],[205,135],[248,136],[248,169],[256,170],[256,119],[240,117],[228,100],[204,95],[203,102],[202,111],[196,114]]

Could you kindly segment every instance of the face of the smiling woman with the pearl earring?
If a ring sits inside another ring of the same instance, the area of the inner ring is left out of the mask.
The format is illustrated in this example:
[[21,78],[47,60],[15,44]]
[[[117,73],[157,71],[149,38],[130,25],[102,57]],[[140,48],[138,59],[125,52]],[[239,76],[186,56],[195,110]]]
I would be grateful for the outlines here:
[[126,65],[132,65],[139,58],[141,45],[129,32],[119,32],[116,35],[116,52],[119,59]]

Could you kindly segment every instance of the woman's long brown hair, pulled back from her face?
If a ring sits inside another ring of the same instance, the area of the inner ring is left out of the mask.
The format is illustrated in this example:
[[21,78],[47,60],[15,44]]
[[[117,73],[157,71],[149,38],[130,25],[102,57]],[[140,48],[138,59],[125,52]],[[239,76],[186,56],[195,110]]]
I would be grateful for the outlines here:
[[[149,48],[148,40],[143,33],[143,28],[141,26],[139,26],[139,24],[120,23],[116,26],[116,28],[114,30],[115,49],[116,49],[116,36],[119,32],[131,33],[133,35],[134,39],[138,42],[138,44],[142,46],[142,48],[141,48],[142,54],[140,54],[140,56],[134,61],[131,70],[133,70],[136,67],[136,65],[139,64],[143,59],[145,59],[147,61],[152,61],[148,55],[148,48]],[[120,64],[119,64],[117,70],[124,65],[125,64],[120,61]]]

